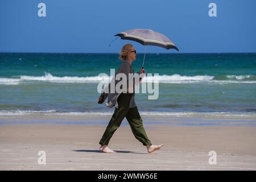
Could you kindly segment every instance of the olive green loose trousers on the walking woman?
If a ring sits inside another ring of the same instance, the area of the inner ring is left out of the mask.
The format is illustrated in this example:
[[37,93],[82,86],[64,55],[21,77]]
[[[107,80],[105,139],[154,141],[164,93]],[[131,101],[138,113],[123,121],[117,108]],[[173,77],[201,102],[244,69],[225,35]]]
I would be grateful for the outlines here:
[[100,140],[102,146],[109,144],[110,138],[115,130],[121,125],[125,117],[129,122],[135,138],[137,138],[144,146],[151,145],[150,140],[147,138],[146,131],[144,130],[142,118],[141,115],[139,115],[137,106],[129,108],[131,96],[133,96],[133,93],[121,93],[117,98],[118,109],[115,107],[114,114]]

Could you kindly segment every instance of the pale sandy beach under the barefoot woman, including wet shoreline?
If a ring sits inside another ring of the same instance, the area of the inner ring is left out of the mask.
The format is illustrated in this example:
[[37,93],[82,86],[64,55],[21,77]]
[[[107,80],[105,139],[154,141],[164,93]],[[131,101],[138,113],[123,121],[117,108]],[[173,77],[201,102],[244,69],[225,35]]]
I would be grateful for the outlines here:
[[[144,127],[152,143],[164,143],[162,150],[154,154],[147,154],[146,147],[135,139],[125,119],[109,143],[110,148],[117,153],[105,154],[98,151],[98,142],[109,118],[110,116],[2,117],[0,169],[256,169],[255,118],[143,117]],[[204,119],[212,119],[212,125],[203,125]],[[240,125],[242,120],[250,125]],[[99,124],[99,121],[104,122]],[[163,122],[157,123],[160,121]],[[220,121],[223,125],[218,124]],[[186,122],[191,125],[183,125]],[[39,151],[46,152],[45,165],[38,164]],[[217,153],[217,164],[209,164],[210,151]]]

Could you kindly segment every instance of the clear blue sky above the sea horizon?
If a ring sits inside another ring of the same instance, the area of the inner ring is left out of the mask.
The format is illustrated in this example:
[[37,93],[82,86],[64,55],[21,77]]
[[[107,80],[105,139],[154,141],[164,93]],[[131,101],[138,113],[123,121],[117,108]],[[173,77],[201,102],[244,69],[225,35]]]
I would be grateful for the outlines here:
[[[46,17],[38,4],[46,4]],[[217,17],[208,15],[209,3]],[[64,1],[1,0],[0,52],[118,53],[125,43],[114,35],[151,28],[168,36],[180,53],[256,52],[255,0]],[[147,52],[175,53],[148,46]]]

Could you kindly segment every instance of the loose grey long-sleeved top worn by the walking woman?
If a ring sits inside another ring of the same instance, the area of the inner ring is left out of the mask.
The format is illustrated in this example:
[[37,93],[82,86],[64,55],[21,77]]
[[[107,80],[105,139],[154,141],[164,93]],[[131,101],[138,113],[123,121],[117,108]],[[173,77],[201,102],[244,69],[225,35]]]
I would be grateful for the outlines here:
[[[118,70],[115,72],[115,75],[117,75],[118,73],[125,73],[126,77],[127,77],[127,86],[129,85],[128,82],[129,82],[129,73],[133,73],[134,74],[134,70],[133,70],[133,67],[132,65],[129,63],[128,60],[122,60],[122,64],[120,65],[120,67],[118,68]],[[142,73],[142,72],[137,72],[139,75]],[[114,80],[114,77],[115,75],[113,76],[111,82],[109,83],[108,86],[106,86],[106,88],[104,90],[102,90],[101,94],[104,95],[104,100],[106,99],[106,97],[108,97],[108,102],[106,102],[106,106],[108,107],[117,107],[118,108],[118,103],[117,103],[117,98],[119,97],[119,95],[123,92],[123,89],[127,89],[127,88],[121,88],[121,89],[117,89],[115,90],[115,93],[110,93],[110,84],[114,84],[115,86],[117,85],[117,83],[120,81],[120,80]],[[115,83],[114,83],[115,81]],[[129,108],[131,107],[136,107],[137,105],[135,104],[135,82],[133,81],[133,96],[131,97],[131,100],[130,100],[130,104],[129,104]],[[126,92],[128,93],[128,92]]]

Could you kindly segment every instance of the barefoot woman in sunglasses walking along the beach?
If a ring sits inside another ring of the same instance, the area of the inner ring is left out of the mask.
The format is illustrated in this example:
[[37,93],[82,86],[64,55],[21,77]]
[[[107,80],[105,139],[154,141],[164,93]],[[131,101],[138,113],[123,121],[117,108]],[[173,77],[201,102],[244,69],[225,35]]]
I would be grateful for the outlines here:
[[[134,74],[131,63],[136,60],[136,51],[132,44],[126,44],[122,47],[122,50],[119,54],[119,59],[122,60],[122,64],[120,65],[118,71],[115,74],[125,73],[127,77],[127,88],[124,89],[127,92],[106,93],[106,89],[104,89],[104,92],[102,92],[101,96],[98,98],[98,103],[102,104],[105,101],[106,97],[108,97],[108,103],[106,103],[106,105],[109,107],[115,106],[114,114],[112,115],[109,125],[106,127],[105,133],[100,140],[100,151],[106,153],[115,152],[108,147],[108,143],[115,130],[118,129],[123,119],[126,117],[135,138],[137,138],[144,146],[146,146],[148,153],[154,152],[156,150],[159,150],[163,146],[163,144],[152,145],[150,140],[148,139],[146,131],[143,127],[141,115],[139,115],[139,111],[134,100],[135,82],[133,81],[133,85],[129,85],[129,73]],[[139,75],[141,75],[142,73],[145,75],[146,71],[144,71],[144,69],[141,69],[138,72]],[[115,85],[116,84],[117,82],[115,81]],[[139,84],[139,82],[137,82],[137,84]],[[109,90],[109,86],[107,88]]]

